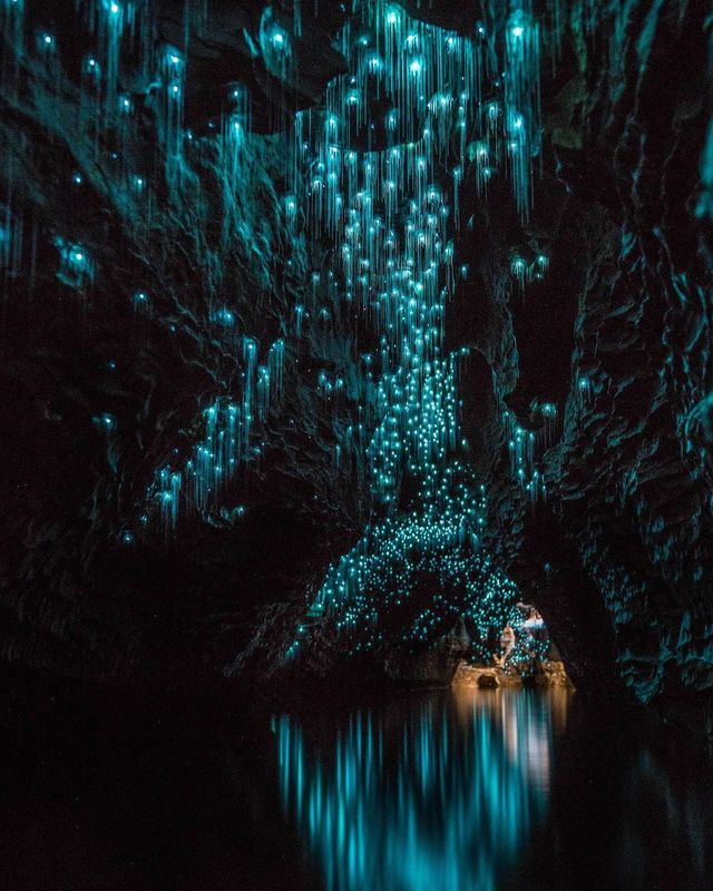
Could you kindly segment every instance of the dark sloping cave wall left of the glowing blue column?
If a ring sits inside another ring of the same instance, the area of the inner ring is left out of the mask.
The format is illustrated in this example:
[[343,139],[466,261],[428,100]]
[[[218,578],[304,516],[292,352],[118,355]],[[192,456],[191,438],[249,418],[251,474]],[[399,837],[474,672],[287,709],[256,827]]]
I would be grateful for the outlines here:
[[[178,40],[175,6],[158,10],[157,46]],[[3,32],[3,233],[14,236],[0,344],[9,663],[116,677],[214,670],[248,642],[265,605],[301,598],[363,522],[360,468],[334,457],[335,430],[363,402],[356,330],[320,316],[331,297],[313,274],[328,248],[307,244],[303,218],[286,219],[279,120],[293,107],[245,48],[260,11],[221,13],[191,43],[184,124],[195,135],[186,130],[170,168],[156,160],[165,120],[138,74],[124,72],[118,94],[136,125],[97,151],[96,108],[84,108],[76,74],[92,47],[79,12],[72,35],[65,11],[26,4],[23,45],[40,29],[61,48],[49,70]],[[313,89],[314,101],[334,74],[325,20],[326,10],[319,27],[305,22],[318,81],[297,100]],[[262,111],[245,145],[212,135],[235,82]],[[90,267],[67,268],[75,248]],[[182,507],[172,530],[157,469],[189,460],[205,412],[240,394],[245,335],[258,362],[287,344],[279,404],[255,420],[219,499]],[[314,386],[321,370],[343,375],[334,398]]]

